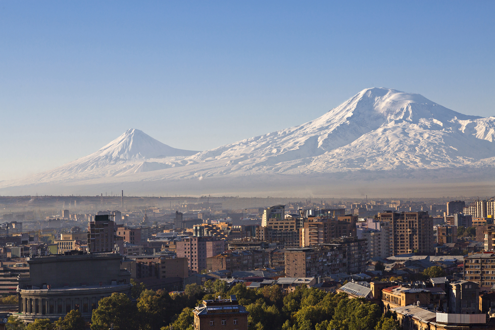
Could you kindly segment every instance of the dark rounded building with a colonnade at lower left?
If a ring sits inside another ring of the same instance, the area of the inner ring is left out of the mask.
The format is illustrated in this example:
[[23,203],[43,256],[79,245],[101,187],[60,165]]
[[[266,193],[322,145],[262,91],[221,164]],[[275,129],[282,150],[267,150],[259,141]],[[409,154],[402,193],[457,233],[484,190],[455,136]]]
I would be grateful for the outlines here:
[[113,292],[131,294],[131,273],[120,269],[118,253],[37,256],[29,258],[29,277],[19,276],[19,310],[24,322],[57,320],[79,310],[85,320],[101,298]]

